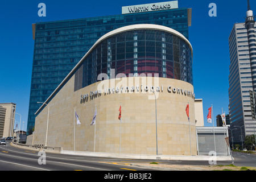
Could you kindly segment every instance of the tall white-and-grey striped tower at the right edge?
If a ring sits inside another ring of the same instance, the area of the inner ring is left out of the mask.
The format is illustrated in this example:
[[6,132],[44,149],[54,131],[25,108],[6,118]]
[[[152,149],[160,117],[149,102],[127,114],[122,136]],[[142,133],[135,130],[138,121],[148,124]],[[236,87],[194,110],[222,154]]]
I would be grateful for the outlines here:
[[256,91],[256,39],[253,11],[246,12],[245,23],[236,23],[229,36],[229,116],[234,143],[243,144],[254,134],[256,121],[251,117],[250,91]]

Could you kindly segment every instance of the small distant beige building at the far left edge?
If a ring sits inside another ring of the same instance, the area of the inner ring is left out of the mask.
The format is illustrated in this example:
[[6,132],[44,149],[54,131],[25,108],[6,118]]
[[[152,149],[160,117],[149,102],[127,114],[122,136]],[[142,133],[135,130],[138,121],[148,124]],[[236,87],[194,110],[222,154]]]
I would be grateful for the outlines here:
[[13,136],[16,104],[0,103],[0,138]]

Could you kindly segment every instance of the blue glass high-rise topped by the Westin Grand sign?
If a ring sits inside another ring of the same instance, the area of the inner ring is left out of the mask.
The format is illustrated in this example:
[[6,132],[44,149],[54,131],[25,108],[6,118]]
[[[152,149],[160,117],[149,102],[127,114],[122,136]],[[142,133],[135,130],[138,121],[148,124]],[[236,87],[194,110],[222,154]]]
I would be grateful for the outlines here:
[[[27,134],[32,134],[35,113],[42,105],[37,102],[47,100],[102,35],[131,24],[158,24],[173,28],[188,39],[191,11],[178,8],[177,1],[170,1],[125,6],[121,15],[32,24],[35,45]],[[94,78],[93,74],[89,77]]]

